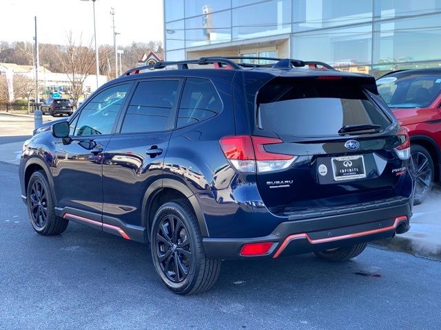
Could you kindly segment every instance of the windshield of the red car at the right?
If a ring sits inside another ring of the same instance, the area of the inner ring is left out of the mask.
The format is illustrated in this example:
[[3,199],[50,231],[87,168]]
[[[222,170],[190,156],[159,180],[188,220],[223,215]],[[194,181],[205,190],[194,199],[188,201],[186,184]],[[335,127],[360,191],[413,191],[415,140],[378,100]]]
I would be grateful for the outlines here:
[[378,92],[390,108],[425,108],[441,90],[441,74],[386,76],[377,80]]

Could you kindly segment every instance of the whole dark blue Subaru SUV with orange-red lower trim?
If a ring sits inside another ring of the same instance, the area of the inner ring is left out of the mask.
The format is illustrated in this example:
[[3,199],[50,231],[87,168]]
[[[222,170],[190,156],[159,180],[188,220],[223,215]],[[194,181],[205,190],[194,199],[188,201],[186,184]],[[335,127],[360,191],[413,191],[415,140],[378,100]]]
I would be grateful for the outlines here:
[[342,261],[409,230],[409,137],[374,78],[270,61],[131,69],[40,129],[19,167],[34,230],[148,243],[178,294],[212,287],[223,259]]

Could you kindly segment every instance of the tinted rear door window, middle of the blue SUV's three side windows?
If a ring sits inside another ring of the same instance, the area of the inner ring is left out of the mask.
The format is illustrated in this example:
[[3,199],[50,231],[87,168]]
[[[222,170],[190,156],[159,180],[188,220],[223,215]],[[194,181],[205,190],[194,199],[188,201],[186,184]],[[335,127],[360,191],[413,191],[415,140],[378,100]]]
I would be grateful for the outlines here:
[[157,132],[172,129],[178,80],[139,83],[127,109],[121,133]]

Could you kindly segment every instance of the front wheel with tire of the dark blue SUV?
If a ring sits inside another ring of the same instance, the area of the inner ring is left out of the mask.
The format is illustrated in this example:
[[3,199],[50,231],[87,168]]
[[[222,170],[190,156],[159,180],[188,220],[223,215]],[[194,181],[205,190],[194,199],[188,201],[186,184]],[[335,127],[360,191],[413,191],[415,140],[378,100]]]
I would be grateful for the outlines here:
[[57,217],[55,214],[54,198],[48,179],[42,170],[32,173],[26,197],[30,223],[37,233],[51,236],[65,231],[69,220]]

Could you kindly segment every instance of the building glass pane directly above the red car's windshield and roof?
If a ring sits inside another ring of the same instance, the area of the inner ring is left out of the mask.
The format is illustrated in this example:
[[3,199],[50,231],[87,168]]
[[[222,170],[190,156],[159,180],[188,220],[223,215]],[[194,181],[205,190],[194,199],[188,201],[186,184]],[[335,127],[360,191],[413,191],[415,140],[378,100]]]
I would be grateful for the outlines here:
[[377,23],[373,63],[396,65],[439,60],[441,15]]

